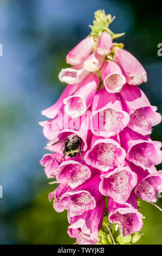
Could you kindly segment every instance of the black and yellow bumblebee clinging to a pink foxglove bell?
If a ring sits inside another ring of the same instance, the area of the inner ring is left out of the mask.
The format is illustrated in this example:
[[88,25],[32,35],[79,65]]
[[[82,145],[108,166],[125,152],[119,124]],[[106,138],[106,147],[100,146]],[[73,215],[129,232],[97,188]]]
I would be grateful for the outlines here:
[[66,139],[53,143],[52,146],[62,142],[64,142],[63,159],[65,155],[74,158],[78,153],[80,153],[83,161],[85,161],[81,153],[82,139],[79,136],[77,136],[76,134],[69,135]]

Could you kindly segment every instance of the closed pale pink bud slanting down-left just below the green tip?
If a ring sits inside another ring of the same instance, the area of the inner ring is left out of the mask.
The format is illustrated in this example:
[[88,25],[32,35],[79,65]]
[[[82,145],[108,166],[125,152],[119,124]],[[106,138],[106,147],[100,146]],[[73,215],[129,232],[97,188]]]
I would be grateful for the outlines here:
[[93,36],[83,39],[67,54],[66,62],[70,65],[81,65],[90,52],[92,52],[93,46]]

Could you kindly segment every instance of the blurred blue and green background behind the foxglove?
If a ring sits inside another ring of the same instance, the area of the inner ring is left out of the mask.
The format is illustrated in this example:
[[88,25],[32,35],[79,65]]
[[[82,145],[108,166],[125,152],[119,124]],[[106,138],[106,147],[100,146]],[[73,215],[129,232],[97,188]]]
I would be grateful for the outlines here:
[[[47,153],[38,121],[41,110],[52,105],[65,84],[58,80],[66,68],[66,54],[85,38],[93,13],[105,9],[116,15],[111,29],[126,32],[122,41],[144,65],[148,82],[141,86],[152,105],[162,113],[162,11],[158,1],[122,0],[1,0],[0,42],[0,243],[72,244],[67,235],[66,212],[57,214],[48,201],[56,186],[40,166]],[[160,141],[162,125],[152,138]],[[158,169],[161,167],[158,166]],[[159,199],[159,206],[162,206]],[[162,213],[149,203],[141,203],[146,216],[138,243],[162,244]]]

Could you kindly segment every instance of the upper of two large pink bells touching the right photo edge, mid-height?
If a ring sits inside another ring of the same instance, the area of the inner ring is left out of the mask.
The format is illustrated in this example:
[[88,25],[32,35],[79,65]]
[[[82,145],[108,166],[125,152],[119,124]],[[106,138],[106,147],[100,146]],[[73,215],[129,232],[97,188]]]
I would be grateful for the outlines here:
[[128,127],[142,135],[152,132],[152,126],[161,122],[157,107],[151,106],[146,95],[137,86],[125,84],[119,94],[123,109],[130,115]]

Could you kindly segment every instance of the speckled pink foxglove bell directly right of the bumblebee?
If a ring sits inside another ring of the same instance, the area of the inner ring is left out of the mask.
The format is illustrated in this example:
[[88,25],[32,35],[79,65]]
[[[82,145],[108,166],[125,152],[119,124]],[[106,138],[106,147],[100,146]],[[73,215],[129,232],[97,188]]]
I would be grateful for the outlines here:
[[107,172],[120,165],[126,152],[120,147],[117,137],[102,138],[95,135],[91,139],[91,147],[85,154],[85,161],[90,166]]

